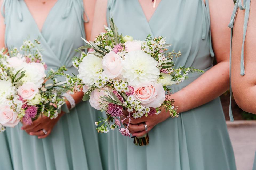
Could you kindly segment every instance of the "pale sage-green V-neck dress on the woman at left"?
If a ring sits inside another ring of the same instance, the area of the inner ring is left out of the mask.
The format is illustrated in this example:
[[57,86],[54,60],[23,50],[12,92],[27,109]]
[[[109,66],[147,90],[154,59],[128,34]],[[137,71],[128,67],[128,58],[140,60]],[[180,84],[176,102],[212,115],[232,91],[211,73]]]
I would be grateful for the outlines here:
[[[58,0],[51,9],[42,31],[31,16],[23,0],[6,0],[6,47],[20,47],[23,40],[40,38],[43,61],[48,68],[66,65],[67,73],[77,73],[72,66],[74,50],[84,45],[83,0]],[[6,128],[0,134],[0,169],[14,170],[70,170],[103,169],[101,144],[94,122],[102,114],[90,107],[89,102],[63,115],[45,139],[28,135],[15,128]]]

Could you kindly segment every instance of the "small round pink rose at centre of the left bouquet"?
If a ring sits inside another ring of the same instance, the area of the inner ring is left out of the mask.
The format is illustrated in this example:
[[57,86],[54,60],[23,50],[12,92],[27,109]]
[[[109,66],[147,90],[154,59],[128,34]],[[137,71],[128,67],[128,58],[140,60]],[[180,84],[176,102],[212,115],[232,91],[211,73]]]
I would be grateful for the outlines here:
[[26,100],[31,100],[35,97],[35,94],[38,93],[38,87],[31,82],[27,82],[18,88],[18,94]]

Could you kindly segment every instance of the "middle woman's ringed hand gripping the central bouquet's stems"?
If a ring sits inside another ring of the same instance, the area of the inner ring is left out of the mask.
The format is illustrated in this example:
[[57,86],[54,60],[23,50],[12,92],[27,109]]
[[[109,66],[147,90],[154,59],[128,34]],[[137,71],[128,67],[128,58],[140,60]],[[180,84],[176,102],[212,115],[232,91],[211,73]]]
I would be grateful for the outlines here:
[[[128,115],[129,113],[124,112],[125,115]],[[154,114],[151,116],[146,117],[145,115],[142,116],[141,118],[131,118],[130,125],[128,127],[130,133],[133,136],[140,137],[148,133],[155,125],[158,123],[161,123],[165,121],[167,118],[170,117],[170,114],[165,112],[165,109],[160,114]],[[128,124],[128,119],[126,119],[123,124]],[[145,123],[147,125],[148,131],[145,131]]]

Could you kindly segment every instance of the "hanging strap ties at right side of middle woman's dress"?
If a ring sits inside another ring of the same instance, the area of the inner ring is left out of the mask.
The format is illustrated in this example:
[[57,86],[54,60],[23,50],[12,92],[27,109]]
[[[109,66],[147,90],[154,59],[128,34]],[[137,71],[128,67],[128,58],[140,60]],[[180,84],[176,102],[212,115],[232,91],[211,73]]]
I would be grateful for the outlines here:
[[[213,46],[212,46],[212,42],[211,42],[211,19],[210,19],[210,10],[209,10],[209,1],[208,0],[202,0],[202,39],[205,40],[206,39],[206,35],[207,35],[207,31],[209,29],[209,33],[210,33],[210,44],[209,44],[209,50],[210,50],[210,54],[212,57],[214,57],[214,52],[213,52]],[[206,11],[207,11],[207,20],[209,22],[209,28],[207,28],[206,26],[206,20],[205,20],[205,12],[204,12],[204,8],[206,7]]]

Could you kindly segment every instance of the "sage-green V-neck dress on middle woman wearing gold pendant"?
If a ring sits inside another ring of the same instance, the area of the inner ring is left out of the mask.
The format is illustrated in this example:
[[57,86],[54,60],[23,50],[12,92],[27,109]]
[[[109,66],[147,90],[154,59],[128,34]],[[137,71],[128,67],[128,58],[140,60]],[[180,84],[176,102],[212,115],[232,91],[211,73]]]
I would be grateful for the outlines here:
[[[213,65],[208,0],[161,0],[149,22],[138,0],[109,0],[107,18],[113,16],[119,33],[145,40],[166,37],[180,50],[176,66],[204,71]],[[149,1],[149,3],[152,3]],[[153,3],[152,3],[153,6]],[[177,92],[201,74],[173,85]],[[214,80],[212,80],[214,81]],[[209,86],[208,90],[212,90]],[[186,101],[183,101],[186,104]],[[134,170],[235,170],[233,148],[219,97],[194,109],[169,118],[149,131],[149,145],[136,146],[133,138],[119,132],[109,134],[109,169]]]

